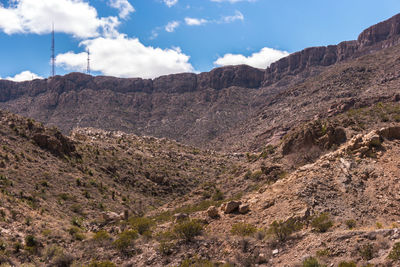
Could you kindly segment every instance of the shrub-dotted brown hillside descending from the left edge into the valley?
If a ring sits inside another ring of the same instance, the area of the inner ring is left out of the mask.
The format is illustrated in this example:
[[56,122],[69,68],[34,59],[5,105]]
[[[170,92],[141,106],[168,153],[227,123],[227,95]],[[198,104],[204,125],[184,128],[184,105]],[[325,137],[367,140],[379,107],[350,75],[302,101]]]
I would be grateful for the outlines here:
[[110,222],[251,186],[244,178],[226,185],[246,171],[236,157],[166,139],[95,129],[66,137],[4,111],[0,135],[0,265],[65,266],[71,253],[87,263],[95,256],[75,248]]

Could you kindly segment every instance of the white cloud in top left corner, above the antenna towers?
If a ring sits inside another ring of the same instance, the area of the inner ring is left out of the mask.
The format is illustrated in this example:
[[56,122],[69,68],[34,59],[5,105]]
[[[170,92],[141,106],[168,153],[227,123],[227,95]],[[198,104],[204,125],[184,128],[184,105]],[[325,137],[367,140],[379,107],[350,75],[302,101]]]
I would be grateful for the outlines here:
[[[111,0],[115,6],[121,3],[122,15],[129,11],[124,2]],[[115,34],[120,23],[116,17],[98,17],[97,10],[84,0],[13,0],[8,7],[0,4],[0,30],[6,34],[50,33],[53,22],[57,32],[82,39]]]

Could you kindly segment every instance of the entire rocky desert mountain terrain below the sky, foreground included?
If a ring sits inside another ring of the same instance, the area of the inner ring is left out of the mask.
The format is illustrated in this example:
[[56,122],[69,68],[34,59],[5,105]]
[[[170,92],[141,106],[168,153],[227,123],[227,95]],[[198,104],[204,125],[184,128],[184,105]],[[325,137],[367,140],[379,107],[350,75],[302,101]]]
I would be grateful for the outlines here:
[[399,266],[399,22],[267,70],[0,81],[35,118],[0,111],[0,266]]

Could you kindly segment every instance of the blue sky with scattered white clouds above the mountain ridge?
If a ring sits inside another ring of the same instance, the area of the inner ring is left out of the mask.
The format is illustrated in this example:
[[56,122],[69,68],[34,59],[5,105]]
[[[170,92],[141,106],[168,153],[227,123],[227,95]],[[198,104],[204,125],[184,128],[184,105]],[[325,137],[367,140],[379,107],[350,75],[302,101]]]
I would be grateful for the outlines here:
[[56,74],[155,78],[225,65],[267,68],[311,46],[357,39],[399,0],[0,0],[0,79]]

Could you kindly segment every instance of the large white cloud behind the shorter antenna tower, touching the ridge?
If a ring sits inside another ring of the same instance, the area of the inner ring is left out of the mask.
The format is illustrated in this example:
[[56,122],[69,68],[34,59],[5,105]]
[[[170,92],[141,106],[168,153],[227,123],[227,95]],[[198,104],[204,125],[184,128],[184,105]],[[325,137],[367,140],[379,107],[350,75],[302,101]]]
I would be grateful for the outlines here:
[[[144,46],[137,38],[120,34],[116,38],[98,37],[81,42],[90,50],[91,69],[117,77],[155,78],[161,75],[193,72],[189,56],[179,48]],[[57,66],[73,71],[86,69],[86,53],[68,52],[56,57]]]

